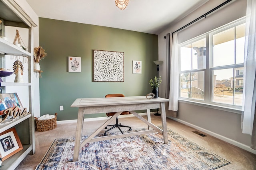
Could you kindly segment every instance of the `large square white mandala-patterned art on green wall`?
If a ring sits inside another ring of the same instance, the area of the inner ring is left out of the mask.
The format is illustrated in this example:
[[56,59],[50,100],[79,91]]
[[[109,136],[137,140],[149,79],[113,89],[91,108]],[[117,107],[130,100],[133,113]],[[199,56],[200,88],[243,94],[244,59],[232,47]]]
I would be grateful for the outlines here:
[[93,50],[93,82],[124,82],[124,52]]

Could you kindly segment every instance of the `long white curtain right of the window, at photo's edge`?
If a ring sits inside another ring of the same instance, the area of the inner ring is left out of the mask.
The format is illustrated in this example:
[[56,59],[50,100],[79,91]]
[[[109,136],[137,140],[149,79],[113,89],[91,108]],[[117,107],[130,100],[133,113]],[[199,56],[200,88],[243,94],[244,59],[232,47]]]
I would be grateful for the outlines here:
[[[256,102],[256,0],[247,0],[246,33],[244,50],[244,94],[242,113],[242,132],[256,135],[253,132]],[[255,130],[255,127],[254,127]],[[254,137],[252,137],[254,138]],[[254,141],[255,142],[255,141]]]

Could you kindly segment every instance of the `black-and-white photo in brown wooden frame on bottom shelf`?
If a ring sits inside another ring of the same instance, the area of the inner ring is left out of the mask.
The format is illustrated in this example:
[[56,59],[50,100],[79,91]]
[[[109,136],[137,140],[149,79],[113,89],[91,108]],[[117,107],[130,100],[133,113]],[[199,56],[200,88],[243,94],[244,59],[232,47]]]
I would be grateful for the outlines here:
[[15,128],[0,133],[0,154],[2,161],[23,149]]

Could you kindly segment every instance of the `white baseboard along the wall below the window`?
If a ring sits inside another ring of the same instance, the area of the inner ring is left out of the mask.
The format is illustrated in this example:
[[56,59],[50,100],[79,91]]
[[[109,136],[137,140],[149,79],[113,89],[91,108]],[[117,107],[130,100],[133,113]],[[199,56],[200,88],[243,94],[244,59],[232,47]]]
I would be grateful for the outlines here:
[[206,129],[204,129],[204,128],[201,128],[201,127],[199,127],[199,126],[196,126],[196,125],[194,125],[194,124],[185,122],[185,121],[180,120],[180,119],[177,119],[177,118],[173,118],[173,117],[168,117],[168,118],[170,118],[170,119],[172,119],[172,120],[175,120],[175,121],[177,121],[177,122],[180,122],[180,123],[182,123],[182,124],[185,124],[185,125],[187,125],[187,126],[190,126],[190,127],[192,127],[192,128],[195,128],[195,129],[197,129],[197,130],[200,130],[200,131],[202,131],[202,132],[205,132],[205,133],[207,133],[207,134],[209,134],[209,135],[211,135],[211,136],[214,136],[214,137],[216,137],[216,138],[218,138],[218,139],[220,139],[220,140],[223,140],[223,141],[228,142],[228,143],[230,143],[230,144],[232,144],[232,145],[234,145],[234,146],[237,146],[237,147],[239,147],[239,148],[242,148],[242,149],[244,149],[244,150],[247,150],[248,152],[251,152],[251,153],[253,153],[253,154],[256,154],[256,150],[250,148],[250,146],[247,146],[247,145],[245,145],[245,144],[242,144],[242,143],[240,143],[240,142],[237,142],[236,140],[227,138],[227,137],[222,136],[222,135],[220,135],[220,134],[216,134],[216,133],[214,133],[214,132],[212,132],[212,131],[210,131],[210,130],[206,130]]

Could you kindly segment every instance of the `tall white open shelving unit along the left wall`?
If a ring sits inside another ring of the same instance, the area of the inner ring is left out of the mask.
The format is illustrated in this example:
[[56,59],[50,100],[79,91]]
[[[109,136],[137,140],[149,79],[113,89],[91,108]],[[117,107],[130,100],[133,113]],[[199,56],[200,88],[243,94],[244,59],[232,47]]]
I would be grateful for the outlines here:
[[[24,4],[26,1],[22,1],[23,6],[20,6],[17,0],[0,0],[0,35],[4,36],[5,26],[15,26],[28,29],[28,51],[17,47],[16,45],[0,38],[0,62],[2,67],[5,64],[5,58],[8,56],[26,56],[28,57],[28,82],[25,83],[14,83],[14,82],[0,82],[0,86],[4,89],[7,86],[28,86],[28,100],[29,100],[29,112],[26,116],[16,118],[13,122],[0,125],[0,133],[8,130],[9,128],[15,127],[23,146],[23,150],[12,155],[10,158],[2,162],[1,170],[14,170],[20,162],[28,155],[35,153],[35,142],[34,142],[34,108],[33,108],[33,83],[31,75],[33,75],[33,55],[31,52],[34,51],[33,46],[33,29],[37,25],[28,16],[27,12],[24,11]],[[25,4],[25,6],[28,4]]]

